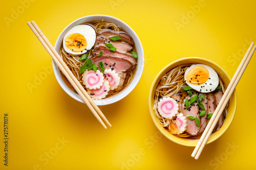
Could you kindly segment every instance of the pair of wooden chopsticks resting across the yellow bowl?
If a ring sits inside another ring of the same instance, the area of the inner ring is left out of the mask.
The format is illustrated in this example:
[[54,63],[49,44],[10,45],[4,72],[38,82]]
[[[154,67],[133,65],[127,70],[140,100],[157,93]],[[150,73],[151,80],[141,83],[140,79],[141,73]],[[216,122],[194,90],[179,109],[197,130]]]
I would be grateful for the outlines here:
[[[235,72],[233,78],[231,79],[229,85],[227,86],[226,91],[224,92],[220,103],[218,104],[214,114],[212,115],[212,117],[210,118],[210,121],[208,123],[208,125],[206,126],[201,138],[199,139],[196,148],[194,149],[193,153],[192,153],[192,157],[194,157],[195,159],[198,159],[200,154],[202,153],[204,146],[209,138],[209,136],[212,133],[212,130],[214,130],[224,108],[226,107],[226,104],[229,101],[229,98],[231,96],[231,94],[233,93],[234,89],[236,88],[239,80],[241,79],[245,68],[247,67],[254,51],[256,48],[256,45],[254,45],[253,49],[251,50],[252,46],[253,46],[253,42],[251,43],[250,47],[248,48],[247,52],[245,53],[245,56],[243,58],[243,60],[241,61],[237,71]],[[250,53],[251,51],[251,53]]]

